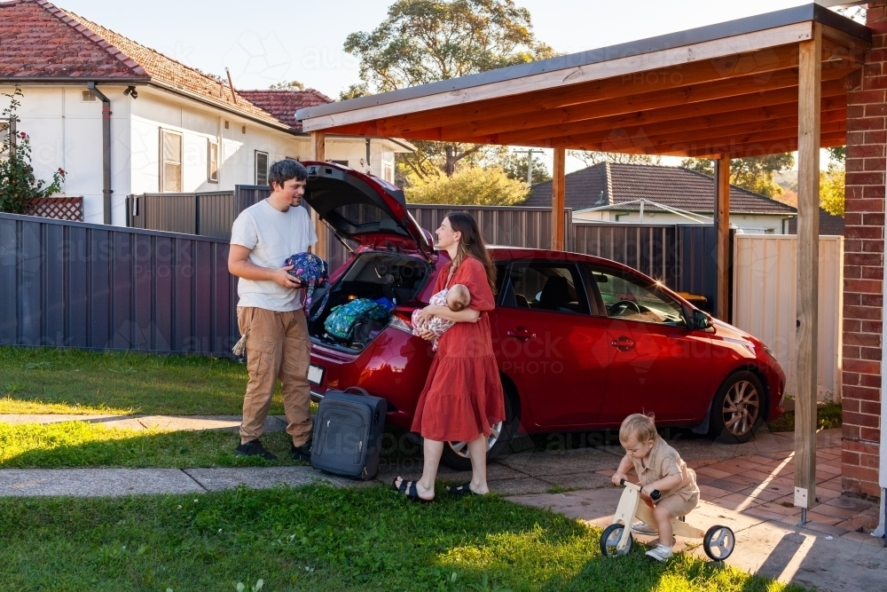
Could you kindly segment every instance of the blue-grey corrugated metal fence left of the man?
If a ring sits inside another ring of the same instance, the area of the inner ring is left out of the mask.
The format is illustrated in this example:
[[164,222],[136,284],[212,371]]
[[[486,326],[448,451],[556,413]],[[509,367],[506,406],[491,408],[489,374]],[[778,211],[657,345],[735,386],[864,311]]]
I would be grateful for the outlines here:
[[228,355],[228,243],[0,214],[0,344]]

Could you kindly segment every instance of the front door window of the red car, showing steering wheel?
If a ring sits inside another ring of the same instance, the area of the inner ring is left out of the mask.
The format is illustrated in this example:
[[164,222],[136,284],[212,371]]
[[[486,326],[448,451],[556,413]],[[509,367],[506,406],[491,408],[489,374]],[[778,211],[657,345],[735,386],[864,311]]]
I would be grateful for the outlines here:
[[686,326],[680,304],[655,283],[600,267],[591,271],[609,318]]

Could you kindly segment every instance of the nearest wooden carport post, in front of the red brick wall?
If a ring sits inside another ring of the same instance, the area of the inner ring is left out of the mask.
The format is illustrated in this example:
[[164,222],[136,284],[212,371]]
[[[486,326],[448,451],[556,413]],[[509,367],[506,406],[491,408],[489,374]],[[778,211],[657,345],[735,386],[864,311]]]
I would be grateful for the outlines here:
[[797,332],[795,507],[816,503],[817,320],[820,271],[820,82],[822,26],[799,43],[797,102]]

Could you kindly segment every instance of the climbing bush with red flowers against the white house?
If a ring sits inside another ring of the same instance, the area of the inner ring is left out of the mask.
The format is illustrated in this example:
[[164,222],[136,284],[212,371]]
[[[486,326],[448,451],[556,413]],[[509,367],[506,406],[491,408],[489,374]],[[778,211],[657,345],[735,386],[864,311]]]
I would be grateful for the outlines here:
[[[9,107],[3,110],[0,121],[20,122],[15,112],[21,107],[21,90],[17,86],[12,93],[2,93],[10,99]],[[64,170],[52,173],[52,182],[37,179],[34,175],[34,167],[31,166],[31,142],[27,133],[17,131],[14,136],[12,126],[6,123],[7,139],[0,145],[0,154],[5,154],[5,159],[0,159],[0,212],[21,214],[27,208],[27,201],[35,197],[49,197],[52,193],[59,193],[62,180],[65,178]]]

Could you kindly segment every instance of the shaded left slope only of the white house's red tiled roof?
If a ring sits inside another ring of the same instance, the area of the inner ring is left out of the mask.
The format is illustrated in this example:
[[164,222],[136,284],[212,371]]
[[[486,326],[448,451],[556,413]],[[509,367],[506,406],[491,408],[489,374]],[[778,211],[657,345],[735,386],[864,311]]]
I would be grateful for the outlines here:
[[0,77],[147,78],[105,39],[43,0],[0,3]]

